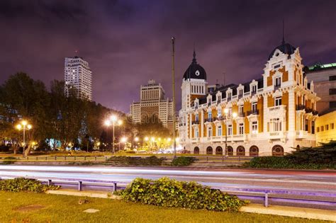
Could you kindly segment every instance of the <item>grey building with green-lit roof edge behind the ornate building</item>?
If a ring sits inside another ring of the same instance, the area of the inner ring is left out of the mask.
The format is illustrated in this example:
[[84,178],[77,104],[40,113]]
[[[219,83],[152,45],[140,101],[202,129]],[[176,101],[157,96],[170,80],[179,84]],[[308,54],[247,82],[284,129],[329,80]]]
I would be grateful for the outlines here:
[[315,64],[304,68],[308,81],[313,81],[314,91],[321,98],[316,109],[323,115],[336,110],[336,63]]

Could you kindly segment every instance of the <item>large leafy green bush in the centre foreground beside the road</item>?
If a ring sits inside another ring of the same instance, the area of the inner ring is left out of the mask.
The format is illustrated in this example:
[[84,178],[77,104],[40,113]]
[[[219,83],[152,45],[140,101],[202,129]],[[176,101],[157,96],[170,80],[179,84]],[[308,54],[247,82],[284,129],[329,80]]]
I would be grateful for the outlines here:
[[163,207],[183,207],[213,211],[236,212],[245,201],[195,182],[160,178],[156,181],[135,178],[118,195],[125,201]]

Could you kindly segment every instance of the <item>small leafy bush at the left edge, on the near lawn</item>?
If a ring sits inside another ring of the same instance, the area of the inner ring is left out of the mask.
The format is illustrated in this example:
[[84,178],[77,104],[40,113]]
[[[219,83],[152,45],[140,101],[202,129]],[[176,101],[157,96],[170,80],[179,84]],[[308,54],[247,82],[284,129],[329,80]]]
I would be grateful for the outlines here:
[[44,193],[46,190],[57,190],[60,186],[44,185],[40,181],[27,178],[14,178],[0,181],[0,190],[11,192],[29,191],[34,193]]

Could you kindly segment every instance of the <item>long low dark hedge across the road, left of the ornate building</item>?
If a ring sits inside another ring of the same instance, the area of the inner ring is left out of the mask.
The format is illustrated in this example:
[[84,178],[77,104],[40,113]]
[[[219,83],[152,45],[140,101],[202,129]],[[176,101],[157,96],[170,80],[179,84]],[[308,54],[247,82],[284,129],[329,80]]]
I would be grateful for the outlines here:
[[119,166],[162,166],[164,158],[157,156],[136,157],[136,156],[111,156],[108,163]]

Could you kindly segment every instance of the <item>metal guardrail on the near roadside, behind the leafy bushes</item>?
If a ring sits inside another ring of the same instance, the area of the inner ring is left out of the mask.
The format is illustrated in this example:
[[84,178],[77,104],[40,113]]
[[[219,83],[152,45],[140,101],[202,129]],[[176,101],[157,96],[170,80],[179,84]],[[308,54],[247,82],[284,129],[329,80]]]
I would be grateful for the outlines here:
[[[4,178],[14,178],[13,176],[0,176],[0,180]],[[83,185],[91,185],[94,187],[104,187],[111,188],[111,191],[114,192],[117,190],[117,186],[119,184],[119,188],[125,188],[128,185],[127,181],[97,181],[97,180],[89,180],[89,179],[75,179],[75,178],[34,178],[29,177],[31,179],[35,179],[46,183],[47,185],[64,185],[64,184],[73,184],[77,185],[77,190],[82,191]],[[246,200],[262,200],[265,207],[269,207],[270,201],[282,201],[282,202],[290,202],[296,204],[303,205],[324,205],[330,207],[332,210],[336,210],[336,193],[335,194],[326,194],[324,200],[318,197],[314,197],[304,190],[295,190],[291,191],[291,193],[276,193],[271,192],[269,190],[264,190],[263,192],[258,191],[244,191],[244,190],[223,190],[219,189],[223,193],[228,193],[228,195],[236,195],[240,199]],[[228,188],[226,188],[228,189]],[[304,198],[293,198],[295,195],[305,196]]]

